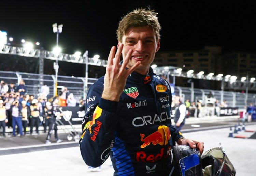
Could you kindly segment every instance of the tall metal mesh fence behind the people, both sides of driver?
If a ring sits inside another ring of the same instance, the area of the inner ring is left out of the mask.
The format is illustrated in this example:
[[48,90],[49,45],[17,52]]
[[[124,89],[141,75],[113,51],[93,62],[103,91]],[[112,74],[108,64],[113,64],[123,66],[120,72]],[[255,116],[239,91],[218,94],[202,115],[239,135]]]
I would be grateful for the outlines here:
[[[26,84],[28,94],[37,97],[41,87],[39,86],[39,74],[22,73],[22,72],[10,72],[0,71],[0,80],[4,80],[6,83],[16,83],[23,79]],[[58,76],[58,87],[67,87],[70,93],[74,94],[74,97],[78,100],[86,97],[87,89],[96,81],[95,78],[88,78],[88,87],[85,85],[84,77],[69,77],[69,76]],[[53,88],[55,84],[55,75],[43,75],[43,83],[50,87],[50,94],[48,97],[53,96]],[[239,109],[245,109],[245,93],[240,92],[228,92],[228,91],[217,91],[208,89],[192,89],[189,87],[175,87],[175,95],[180,95],[184,99],[190,101],[196,101],[198,99],[205,100],[205,97],[212,92],[214,98],[219,101],[226,100],[228,106],[238,107]],[[249,103],[256,104],[256,94],[248,94],[247,105]]]

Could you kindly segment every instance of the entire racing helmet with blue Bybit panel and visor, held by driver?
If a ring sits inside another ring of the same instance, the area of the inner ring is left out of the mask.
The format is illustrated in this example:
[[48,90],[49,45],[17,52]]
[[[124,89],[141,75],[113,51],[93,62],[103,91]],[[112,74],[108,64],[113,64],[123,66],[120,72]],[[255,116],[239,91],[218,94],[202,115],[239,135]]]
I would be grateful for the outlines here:
[[175,146],[172,150],[173,175],[177,176],[235,176],[236,170],[220,146],[206,151],[202,157],[196,149],[186,145]]

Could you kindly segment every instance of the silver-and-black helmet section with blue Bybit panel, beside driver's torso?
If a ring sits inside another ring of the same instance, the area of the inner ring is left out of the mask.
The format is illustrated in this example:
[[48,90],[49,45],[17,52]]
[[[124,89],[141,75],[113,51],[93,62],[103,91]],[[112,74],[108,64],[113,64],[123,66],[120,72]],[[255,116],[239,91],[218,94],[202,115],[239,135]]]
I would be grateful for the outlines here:
[[196,149],[191,149],[187,145],[178,145],[175,142],[175,146],[172,149],[172,156],[174,175],[203,176],[201,155]]

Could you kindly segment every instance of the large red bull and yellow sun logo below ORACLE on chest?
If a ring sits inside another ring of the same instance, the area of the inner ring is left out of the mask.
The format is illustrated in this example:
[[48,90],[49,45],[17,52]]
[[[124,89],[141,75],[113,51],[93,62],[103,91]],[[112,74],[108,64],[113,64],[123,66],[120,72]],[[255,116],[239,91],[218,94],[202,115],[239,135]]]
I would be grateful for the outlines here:
[[[145,134],[140,134],[141,141],[144,142],[140,147],[145,148],[146,146],[159,144],[159,145],[167,145],[170,140],[171,134],[169,127],[165,125],[160,125],[156,132],[145,137]],[[145,137],[145,138],[144,138]]]

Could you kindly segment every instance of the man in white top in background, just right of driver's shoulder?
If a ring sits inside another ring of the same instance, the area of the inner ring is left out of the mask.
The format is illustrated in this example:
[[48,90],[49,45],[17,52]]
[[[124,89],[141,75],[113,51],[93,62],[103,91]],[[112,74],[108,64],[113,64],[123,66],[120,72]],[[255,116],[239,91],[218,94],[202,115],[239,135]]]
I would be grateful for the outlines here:
[[179,96],[175,97],[175,115],[174,115],[174,122],[175,128],[181,131],[181,128],[185,124],[185,117],[186,117],[186,106],[182,103],[182,98]]

